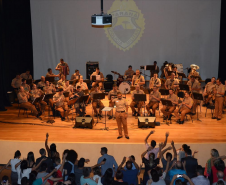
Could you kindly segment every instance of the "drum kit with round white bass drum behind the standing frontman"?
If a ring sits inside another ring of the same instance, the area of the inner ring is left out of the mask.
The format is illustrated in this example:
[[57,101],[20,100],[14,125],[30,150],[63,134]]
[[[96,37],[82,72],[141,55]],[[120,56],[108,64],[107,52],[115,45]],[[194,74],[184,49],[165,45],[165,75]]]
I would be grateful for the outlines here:
[[117,79],[117,86],[122,94],[128,94],[130,92],[131,80],[128,80],[128,76],[123,76],[116,71],[111,71],[115,75],[119,75]]

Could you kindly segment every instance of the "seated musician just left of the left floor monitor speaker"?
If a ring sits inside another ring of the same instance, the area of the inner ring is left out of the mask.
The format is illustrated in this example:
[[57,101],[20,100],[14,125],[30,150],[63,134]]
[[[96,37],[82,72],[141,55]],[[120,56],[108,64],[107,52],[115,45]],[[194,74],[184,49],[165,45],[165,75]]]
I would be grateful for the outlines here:
[[59,89],[59,92],[57,92],[53,96],[53,103],[55,104],[56,111],[60,112],[60,118],[62,121],[65,121],[65,117],[69,114],[69,109],[67,102],[65,102],[65,97],[63,94],[64,90],[62,88]]

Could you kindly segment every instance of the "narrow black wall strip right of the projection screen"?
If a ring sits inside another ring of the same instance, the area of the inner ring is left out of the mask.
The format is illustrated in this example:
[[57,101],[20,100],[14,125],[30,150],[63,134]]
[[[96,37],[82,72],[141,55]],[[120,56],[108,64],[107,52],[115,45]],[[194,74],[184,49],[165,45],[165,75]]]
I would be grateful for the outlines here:
[[[226,1],[221,1],[220,57],[218,77],[226,80]],[[218,61],[216,61],[218,62]]]

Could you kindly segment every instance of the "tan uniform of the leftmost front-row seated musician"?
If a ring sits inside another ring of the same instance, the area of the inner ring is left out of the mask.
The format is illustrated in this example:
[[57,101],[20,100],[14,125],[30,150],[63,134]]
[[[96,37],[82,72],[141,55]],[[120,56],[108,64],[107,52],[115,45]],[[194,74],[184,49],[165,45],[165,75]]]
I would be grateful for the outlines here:
[[28,110],[31,110],[32,113],[37,116],[38,115],[38,111],[37,109],[35,108],[34,105],[32,105],[30,102],[28,102],[28,93],[26,92],[19,92],[17,94],[17,97],[18,97],[18,100],[19,100],[19,103],[20,103],[20,106],[23,107],[23,108],[26,108]]

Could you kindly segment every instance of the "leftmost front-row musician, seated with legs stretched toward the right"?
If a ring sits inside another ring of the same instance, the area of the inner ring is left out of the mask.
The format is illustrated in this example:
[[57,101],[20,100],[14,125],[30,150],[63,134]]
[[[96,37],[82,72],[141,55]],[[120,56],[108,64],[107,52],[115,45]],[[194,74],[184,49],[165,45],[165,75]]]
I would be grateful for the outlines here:
[[24,88],[22,86],[20,86],[20,88],[19,88],[19,92],[17,94],[17,97],[18,97],[18,100],[19,100],[21,107],[26,108],[28,110],[31,110],[32,113],[37,118],[41,119],[40,116],[42,115],[42,112],[38,112],[37,109],[35,108],[35,106],[32,105],[30,102],[28,102],[29,94],[24,91]]

